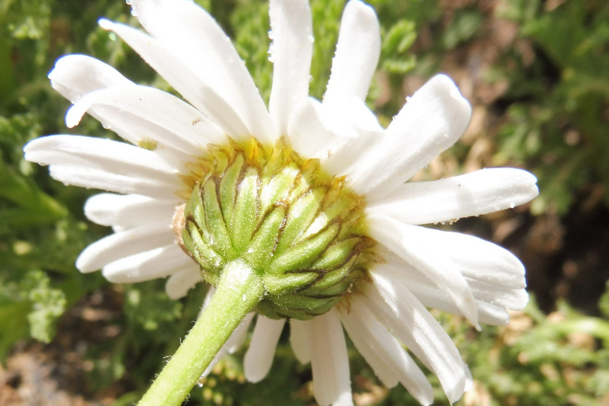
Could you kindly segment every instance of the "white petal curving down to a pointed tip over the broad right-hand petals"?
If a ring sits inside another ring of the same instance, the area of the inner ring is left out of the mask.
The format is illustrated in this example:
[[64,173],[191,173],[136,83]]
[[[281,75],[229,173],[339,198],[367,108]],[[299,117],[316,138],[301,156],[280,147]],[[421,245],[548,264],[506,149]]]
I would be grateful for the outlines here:
[[383,215],[370,216],[368,222],[371,237],[410,265],[427,273],[429,279],[446,292],[465,317],[477,329],[480,328],[474,295],[458,265],[443,252],[446,245],[442,239],[444,234],[456,233],[406,225]]

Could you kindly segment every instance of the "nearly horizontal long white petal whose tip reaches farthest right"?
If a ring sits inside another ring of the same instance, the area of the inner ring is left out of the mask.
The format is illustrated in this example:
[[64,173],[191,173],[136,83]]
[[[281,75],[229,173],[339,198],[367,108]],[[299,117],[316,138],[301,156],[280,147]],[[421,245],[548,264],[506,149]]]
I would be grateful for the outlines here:
[[[537,178],[526,170],[481,169],[453,178],[405,183],[367,211],[407,224],[448,222],[514,208],[535,198]],[[371,204],[370,204],[371,203]]]

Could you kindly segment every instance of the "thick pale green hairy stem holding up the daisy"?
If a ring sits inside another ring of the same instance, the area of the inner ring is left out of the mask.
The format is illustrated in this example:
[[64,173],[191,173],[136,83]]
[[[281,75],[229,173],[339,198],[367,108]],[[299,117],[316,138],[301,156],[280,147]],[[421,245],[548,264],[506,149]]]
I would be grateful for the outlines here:
[[263,291],[261,279],[247,263],[229,262],[211,302],[138,406],[179,406]]

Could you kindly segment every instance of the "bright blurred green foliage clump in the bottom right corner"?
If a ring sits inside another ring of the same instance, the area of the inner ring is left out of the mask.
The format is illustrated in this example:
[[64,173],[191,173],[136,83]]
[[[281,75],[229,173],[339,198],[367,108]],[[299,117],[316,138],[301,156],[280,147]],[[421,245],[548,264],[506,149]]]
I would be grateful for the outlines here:
[[483,383],[494,399],[595,405],[604,394],[599,389],[607,385],[608,344],[606,320],[582,315],[566,303],[544,316],[532,300],[514,325],[498,329],[485,355],[491,358],[477,359],[472,373],[487,377]]

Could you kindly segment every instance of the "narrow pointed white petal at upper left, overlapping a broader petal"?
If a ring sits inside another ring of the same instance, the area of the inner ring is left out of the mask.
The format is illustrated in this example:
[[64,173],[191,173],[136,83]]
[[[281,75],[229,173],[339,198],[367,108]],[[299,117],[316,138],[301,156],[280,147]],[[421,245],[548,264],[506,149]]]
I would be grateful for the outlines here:
[[223,99],[202,75],[195,73],[190,66],[181,61],[171,48],[124,24],[100,19],[99,25],[121,37],[186,100],[225,130],[229,136],[241,139],[251,134],[230,103]]

